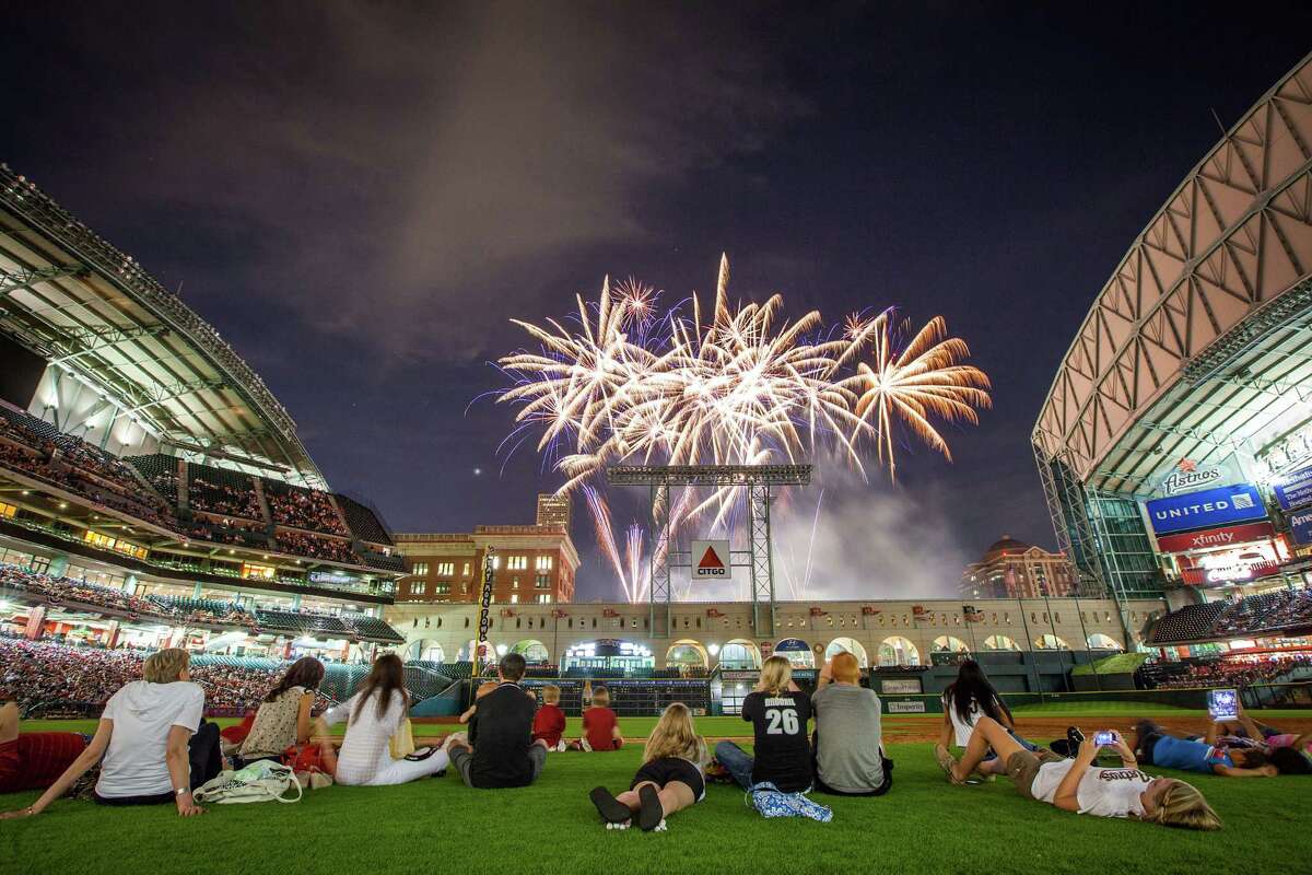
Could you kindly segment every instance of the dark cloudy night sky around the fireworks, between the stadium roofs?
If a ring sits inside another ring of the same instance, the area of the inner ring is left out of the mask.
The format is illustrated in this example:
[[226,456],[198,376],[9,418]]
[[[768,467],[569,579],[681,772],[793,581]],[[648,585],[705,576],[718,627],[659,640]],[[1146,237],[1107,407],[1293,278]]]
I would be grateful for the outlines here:
[[[735,295],[794,316],[943,314],[994,408],[954,464],[908,443],[899,485],[836,488],[837,548],[882,538],[817,558],[882,594],[950,592],[1004,531],[1052,546],[1029,433],[1061,354],[1218,118],[1312,49],[1307,3],[39,5],[0,33],[0,159],[395,530],[531,522],[559,478],[470,401],[526,342],[509,316],[607,273],[712,293],[727,251]],[[575,516],[580,597],[610,596]]]

